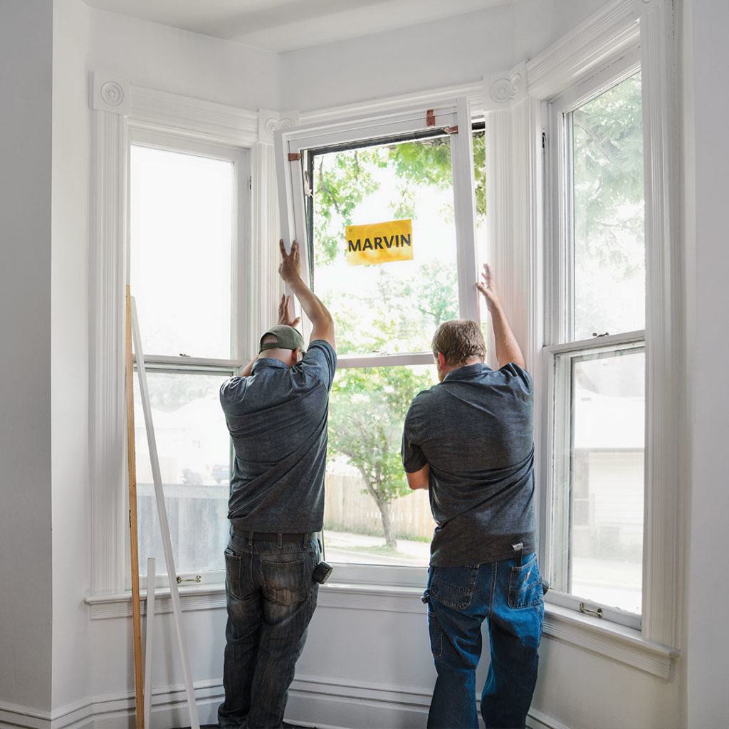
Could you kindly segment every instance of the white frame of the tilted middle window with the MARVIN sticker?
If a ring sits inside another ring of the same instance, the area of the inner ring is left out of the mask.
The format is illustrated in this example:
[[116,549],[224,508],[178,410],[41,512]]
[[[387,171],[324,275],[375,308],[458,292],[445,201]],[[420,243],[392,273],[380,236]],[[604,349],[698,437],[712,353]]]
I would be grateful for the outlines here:
[[[475,101],[476,106],[480,106]],[[428,125],[432,110],[434,125]],[[458,126],[467,134],[452,133],[453,200],[456,224],[456,267],[459,282],[460,316],[480,320],[477,290],[477,250],[475,235],[475,190],[473,183],[473,138],[471,101],[467,95],[422,98],[418,104],[397,105],[379,113],[364,109],[361,116],[329,118],[311,125],[282,129],[276,133],[276,163],[281,211],[281,230],[288,240],[308,242],[303,193],[305,150],[335,144],[394,138],[426,130]],[[479,114],[476,114],[478,116]],[[336,117],[337,114],[331,114]],[[284,236],[285,237],[285,236]],[[302,276],[308,282],[308,246],[302,245]],[[305,322],[305,327],[307,323]],[[338,369],[350,367],[394,367],[433,364],[431,351],[399,354],[346,354],[338,357]],[[338,564],[332,584],[389,585],[393,588],[423,588],[425,567]]]

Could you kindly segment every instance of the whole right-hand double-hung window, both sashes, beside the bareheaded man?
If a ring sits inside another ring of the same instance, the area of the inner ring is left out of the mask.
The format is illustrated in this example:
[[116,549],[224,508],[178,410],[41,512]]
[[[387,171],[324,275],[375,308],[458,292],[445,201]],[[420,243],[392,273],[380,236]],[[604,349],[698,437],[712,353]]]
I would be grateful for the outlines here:
[[631,55],[553,99],[545,311],[553,600],[642,614],[646,253],[642,74]]

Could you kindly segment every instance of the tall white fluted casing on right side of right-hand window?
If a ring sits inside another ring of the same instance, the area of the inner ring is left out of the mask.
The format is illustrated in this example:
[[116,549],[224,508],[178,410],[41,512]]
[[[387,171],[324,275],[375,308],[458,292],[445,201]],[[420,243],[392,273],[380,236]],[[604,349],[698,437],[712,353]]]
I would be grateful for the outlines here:
[[681,646],[689,464],[684,252],[679,238],[677,69],[671,3],[640,22],[646,212],[646,501],[643,634]]

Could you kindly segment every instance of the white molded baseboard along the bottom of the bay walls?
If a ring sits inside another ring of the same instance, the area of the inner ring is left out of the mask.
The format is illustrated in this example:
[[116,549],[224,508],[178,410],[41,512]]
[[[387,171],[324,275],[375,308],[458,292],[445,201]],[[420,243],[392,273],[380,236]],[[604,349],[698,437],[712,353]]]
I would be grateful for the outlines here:
[[[286,721],[317,729],[423,729],[430,697],[430,690],[420,687],[300,676],[289,689]],[[195,684],[201,725],[217,723],[217,707],[222,699],[220,679]],[[90,697],[52,714],[0,703],[0,729],[134,729],[135,723],[131,692]],[[152,725],[190,726],[184,687],[153,689]],[[570,729],[534,709],[529,712],[527,727]]]

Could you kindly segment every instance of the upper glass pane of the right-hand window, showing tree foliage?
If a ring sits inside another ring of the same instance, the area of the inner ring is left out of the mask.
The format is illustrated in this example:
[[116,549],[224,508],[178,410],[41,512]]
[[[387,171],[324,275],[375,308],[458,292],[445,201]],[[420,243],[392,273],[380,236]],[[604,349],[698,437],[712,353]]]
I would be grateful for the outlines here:
[[641,76],[568,115],[574,205],[574,339],[645,327]]

